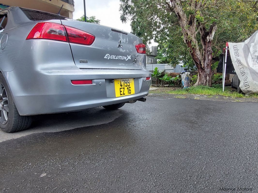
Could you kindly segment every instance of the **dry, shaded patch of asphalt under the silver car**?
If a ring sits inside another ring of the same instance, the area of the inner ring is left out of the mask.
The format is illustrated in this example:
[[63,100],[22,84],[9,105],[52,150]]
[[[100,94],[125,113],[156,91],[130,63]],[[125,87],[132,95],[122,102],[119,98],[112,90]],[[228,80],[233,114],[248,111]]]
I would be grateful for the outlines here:
[[57,113],[33,116],[31,128],[17,133],[5,133],[0,130],[0,142],[16,139],[34,133],[50,133],[71,130],[79,127],[106,124],[120,117],[121,110],[108,111],[102,107],[77,112]]

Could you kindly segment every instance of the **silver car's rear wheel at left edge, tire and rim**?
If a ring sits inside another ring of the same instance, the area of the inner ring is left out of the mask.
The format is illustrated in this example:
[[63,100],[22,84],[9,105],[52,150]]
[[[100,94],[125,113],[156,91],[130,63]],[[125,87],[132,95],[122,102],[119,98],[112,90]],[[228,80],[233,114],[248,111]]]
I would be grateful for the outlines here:
[[0,73],[0,94],[1,130],[13,133],[27,129],[31,125],[31,117],[19,114],[2,73]]

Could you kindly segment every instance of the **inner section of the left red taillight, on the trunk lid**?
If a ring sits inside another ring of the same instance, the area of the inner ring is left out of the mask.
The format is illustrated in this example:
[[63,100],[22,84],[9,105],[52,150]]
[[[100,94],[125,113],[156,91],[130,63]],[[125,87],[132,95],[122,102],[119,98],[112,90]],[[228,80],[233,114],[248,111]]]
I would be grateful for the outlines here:
[[69,26],[65,26],[67,35],[68,35],[68,40],[70,43],[78,43],[78,44],[83,44],[83,45],[92,45],[92,43],[95,40],[95,36],[92,34],[89,34],[85,31],[72,28]]

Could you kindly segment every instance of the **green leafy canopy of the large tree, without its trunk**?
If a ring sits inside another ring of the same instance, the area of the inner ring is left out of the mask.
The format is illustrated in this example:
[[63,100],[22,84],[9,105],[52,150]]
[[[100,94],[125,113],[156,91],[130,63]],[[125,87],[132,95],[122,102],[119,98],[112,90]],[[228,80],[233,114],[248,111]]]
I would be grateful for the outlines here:
[[[157,58],[160,63],[175,66],[182,62],[185,66],[194,65],[170,1],[120,0],[120,2],[122,11],[120,19],[127,22],[128,18],[131,18],[133,34],[142,38],[144,43],[150,43],[151,39],[159,43]],[[257,1],[195,0],[195,4],[201,3],[198,10],[192,9],[192,2],[180,1],[187,18],[193,16],[193,22],[204,26],[207,31],[212,24],[217,27],[212,42],[214,61],[219,60],[219,54],[226,42],[243,41],[258,28]],[[187,28],[190,27],[191,23]],[[194,30],[198,44],[192,46],[198,47],[202,52],[200,28],[196,27]]]

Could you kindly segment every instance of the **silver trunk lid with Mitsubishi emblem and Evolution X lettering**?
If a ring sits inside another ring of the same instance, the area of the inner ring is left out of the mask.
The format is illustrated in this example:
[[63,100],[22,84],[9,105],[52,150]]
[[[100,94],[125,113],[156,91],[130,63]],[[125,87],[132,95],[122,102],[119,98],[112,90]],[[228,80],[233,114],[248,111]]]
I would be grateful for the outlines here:
[[70,43],[74,62],[79,68],[142,69],[145,54],[135,45],[142,43],[137,36],[99,24],[61,20],[65,26],[77,28],[95,36],[90,46]]

